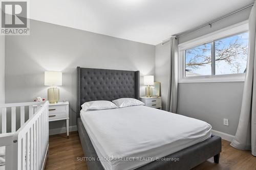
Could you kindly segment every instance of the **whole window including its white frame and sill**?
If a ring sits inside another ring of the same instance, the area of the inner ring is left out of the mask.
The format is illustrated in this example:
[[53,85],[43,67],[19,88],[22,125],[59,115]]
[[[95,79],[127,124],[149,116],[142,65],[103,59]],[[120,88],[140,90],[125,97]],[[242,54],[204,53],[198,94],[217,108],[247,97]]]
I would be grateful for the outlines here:
[[179,45],[179,82],[243,81],[247,30],[246,24]]

